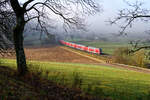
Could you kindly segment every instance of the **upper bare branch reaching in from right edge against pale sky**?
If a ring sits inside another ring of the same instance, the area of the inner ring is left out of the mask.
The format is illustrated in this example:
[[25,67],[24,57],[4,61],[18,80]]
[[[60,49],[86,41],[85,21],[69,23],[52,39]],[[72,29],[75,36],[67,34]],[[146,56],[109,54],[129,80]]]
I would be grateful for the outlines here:
[[[113,20],[109,20],[111,25],[119,23],[119,21],[124,21],[125,25],[121,25],[120,35],[125,34],[127,28],[131,28],[134,21],[140,19],[141,21],[148,21],[150,19],[150,10],[142,9],[142,2],[129,3],[125,1],[129,9],[122,9],[118,13],[118,17]],[[147,20],[145,20],[147,19]]]

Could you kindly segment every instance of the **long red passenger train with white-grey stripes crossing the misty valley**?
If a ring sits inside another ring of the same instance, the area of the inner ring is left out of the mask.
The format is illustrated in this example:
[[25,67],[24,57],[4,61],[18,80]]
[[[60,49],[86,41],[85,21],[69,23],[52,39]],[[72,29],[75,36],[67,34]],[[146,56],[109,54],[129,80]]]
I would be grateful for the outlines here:
[[95,47],[89,47],[89,46],[85,46],[85,45],[81,45],[81,44],[76,44],[76,43],[72,43],[72,42],[66,42],[64,40],[60,40],[60,43],[75,49],[79,49],[82,51],[86,51],[86,52],[90,52],[90,53],[94,53],[94,54],[102,54],[102,49],[101,48],[95,48]]

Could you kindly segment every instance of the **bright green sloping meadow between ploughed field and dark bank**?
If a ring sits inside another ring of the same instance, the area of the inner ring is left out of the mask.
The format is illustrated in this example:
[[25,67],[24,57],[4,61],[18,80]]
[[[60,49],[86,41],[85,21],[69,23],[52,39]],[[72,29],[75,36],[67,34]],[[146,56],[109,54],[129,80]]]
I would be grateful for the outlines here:
[[[16,69],[15,60],[1,59],[2,66]],[[78,85],[85,92],[113,100],[150,100],[150,74],[88,64],[28,62],[33,70],[60,84]],[[47,73],[47,74],[46,74]]]

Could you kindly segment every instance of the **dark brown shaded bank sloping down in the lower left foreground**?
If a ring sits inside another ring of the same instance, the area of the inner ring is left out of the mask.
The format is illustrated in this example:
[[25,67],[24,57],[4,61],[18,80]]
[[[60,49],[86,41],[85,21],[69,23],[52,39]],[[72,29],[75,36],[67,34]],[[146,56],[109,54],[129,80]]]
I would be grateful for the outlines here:
[[37,73],[19,77],[16,70],[0,66],[0,100],[100,100],[42,78]]

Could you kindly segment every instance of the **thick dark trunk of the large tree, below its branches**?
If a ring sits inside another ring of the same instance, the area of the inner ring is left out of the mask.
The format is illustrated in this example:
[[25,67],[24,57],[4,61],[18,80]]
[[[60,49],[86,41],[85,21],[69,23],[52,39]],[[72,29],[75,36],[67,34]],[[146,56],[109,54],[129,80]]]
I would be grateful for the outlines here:
[[25,75],[27,72],[26,57],[23,47],[24,27],[25,27],[24,16],[17,18],[17,25],[14,28],[13,37],[16,51],[17,69],[19,75]]

